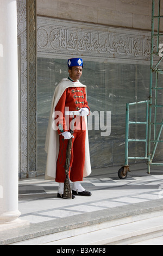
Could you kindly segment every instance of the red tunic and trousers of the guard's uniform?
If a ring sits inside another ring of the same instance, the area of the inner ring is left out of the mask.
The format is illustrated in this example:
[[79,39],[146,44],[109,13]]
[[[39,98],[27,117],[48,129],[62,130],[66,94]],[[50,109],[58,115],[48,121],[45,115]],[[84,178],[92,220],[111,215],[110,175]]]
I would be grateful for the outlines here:
[[[60,100],[55,107],[55,123],[58,126],[58,133],[60,134],[60,149],[57,161],[57,174],[55,181],[64,182],[65,181],[65,162],[66,162],[66,149],[68,140],[64,139],[61,135],[62,132],[70,131],[71,121],[73,119],[72,115],[67,115],[68,111],[79,111],[81,108],[88,108],[86,93],[84,87],[77,88],[67,88],[65,92],[60,97]],[[90,110],[90,109],[89,109]],[[66,111],[66,115],[65,115]],[[72,141],[72,153],[70,161],[70,180],[72,182],[83,180],[83,169],[85,162],[85,136],[86,127],[84,117],[76,115],[74,123],[74,138]]]

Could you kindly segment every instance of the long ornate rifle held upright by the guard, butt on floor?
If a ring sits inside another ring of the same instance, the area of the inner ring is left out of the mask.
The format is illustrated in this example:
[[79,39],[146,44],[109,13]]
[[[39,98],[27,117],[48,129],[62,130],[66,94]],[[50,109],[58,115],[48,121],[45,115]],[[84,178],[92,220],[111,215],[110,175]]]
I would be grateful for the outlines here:
[[69,169],[71,161],[71,150],[72,150],[72,139],[73,139],[73,127],[74,127],[74,115],[72,120],[72,127],[70,133],[72,135],[71,139],[68,139],[67,151],[66,151],[66,163],[65,163],[65,182],[64,182],[64,195],[65,199],[72,199],[72,191],[69,178]]

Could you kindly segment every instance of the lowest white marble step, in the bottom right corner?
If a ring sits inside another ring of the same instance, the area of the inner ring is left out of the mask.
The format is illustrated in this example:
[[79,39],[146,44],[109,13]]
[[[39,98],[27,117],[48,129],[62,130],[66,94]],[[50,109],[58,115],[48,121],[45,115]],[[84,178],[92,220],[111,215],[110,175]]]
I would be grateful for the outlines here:
[[130,245],[163,235],[163,216],[117,225],[90,233],[45,243],[45,245]]

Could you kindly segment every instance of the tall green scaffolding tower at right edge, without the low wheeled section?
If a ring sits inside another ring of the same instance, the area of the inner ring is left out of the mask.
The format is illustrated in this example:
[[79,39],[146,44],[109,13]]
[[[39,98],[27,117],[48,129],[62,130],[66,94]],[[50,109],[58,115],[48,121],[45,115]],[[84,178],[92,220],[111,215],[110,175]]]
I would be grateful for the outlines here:
[[[163,1],[162,1],[163,3]],[[155,4],[158,4],[158,14],[155,15]],[[160,15],[161,13],[161,0],[153,0],[152,1],[152,36],[151,36],[151,71],[150,71],[150,87],[149,87],[149,125],[148,125],[148,173],[150,174],[150,169],[152,165],[156,166],[163,166],[163,163],[154,163],[154,155],[156,148],[158,147],[158,143],[162,143],[163,141],[160,140],[162,128],[163,128],[163,119],[158,122],[157,112],[158,108],[162,108],[163,105],[159,105],[158,103],[158,91],[163,90],[162,87],[159,86],[159,76],[163,75],[163,70],[160,69],[159,65],[161,64],[162,58],[159,57],[159,45],[161,43],[161,39],[163,34],[160,33],[160,20],[163,19],[163,16]],[[154,25],[157,25],[157,33],[154,31]],[[156,51],[154,50],[154,41],[156,41]],[[156,60],[155,57],[159,59]],[[155,82],[154,82],[155,77]],[[155,91],[155,100],[153,102],[153,93]],[[162,91],[163,92],[163,91]],[[154,108],[154,113],[152,110]],[[152,115],[154,115],[154,119],[152,120]],[[154,139],[152,140],[152,126],[154,126]],[[157,127],[160,126],[159,131]],[[151,154],[152,150],[152,143],[154,144],[153,153]]]

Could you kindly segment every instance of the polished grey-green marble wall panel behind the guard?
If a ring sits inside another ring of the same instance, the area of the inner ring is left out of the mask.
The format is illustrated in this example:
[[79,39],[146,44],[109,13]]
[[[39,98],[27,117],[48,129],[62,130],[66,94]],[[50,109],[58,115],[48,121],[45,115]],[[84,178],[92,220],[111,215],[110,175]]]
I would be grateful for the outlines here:
[[[68,76],[67,59],[38,58],[38,169],[46,166],[44,151],[49,111],[55,87]],[[87,100],[91,112],[111,111],[111,135],[101,137],[101,130],[89,131],[92,168],[124,164],[126,103],[148,100],[149,65],[84,61],[80,80],[87,86]],[[145,120],[143,107],[131,108],[130,118]],[[94,127],[94,125],[93,125]],[[145,138],[145,126],[132,126],[130,138]],[[130,143],[130,156],[142,156],[145,143]],[[162,148],[157,154],[162,156]],[[131,162],[131,161],[130,161]]]

